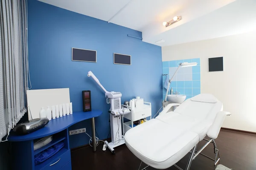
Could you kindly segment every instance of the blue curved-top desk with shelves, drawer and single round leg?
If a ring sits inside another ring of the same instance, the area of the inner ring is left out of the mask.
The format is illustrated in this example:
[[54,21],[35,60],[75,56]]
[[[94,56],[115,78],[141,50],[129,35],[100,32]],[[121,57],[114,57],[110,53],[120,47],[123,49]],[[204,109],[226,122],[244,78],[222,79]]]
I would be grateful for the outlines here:
[[[69,147],[68,127],[86,119],[92,120],[93,151],[96,151],[95,124],[94,118],[100,116],[102,111],[74,112],[73,114],[52,119],[49,123],[32,133],[18,136],[11,132],[8,141],[12,142],[12,153],[15,156],[13,169],[20,170],[71,170],[71,156]],[[34,139],[52,135],[52,142],[34,151]],[[52,145],[64,142],[64,147],[55,155],[35,165],[34,156],[37,153],[51,147]]]

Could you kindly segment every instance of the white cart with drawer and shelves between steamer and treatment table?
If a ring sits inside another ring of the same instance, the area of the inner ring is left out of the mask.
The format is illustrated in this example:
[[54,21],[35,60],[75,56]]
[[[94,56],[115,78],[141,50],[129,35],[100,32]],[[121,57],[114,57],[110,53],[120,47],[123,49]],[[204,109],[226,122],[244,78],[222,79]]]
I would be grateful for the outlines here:
[[[131,109],[130,106],[122,105],[122,108],[129,108],[131,113],[125,114],[122,116],[122,125],[123,125],[123,134],[127,132],[127,130],[134,127],[134,123],[137,120],[144,119],[150,117],[151,119],[151,103],[144,102],[143,107]],[[128,122],[123,122],[123,118],[129,119]],[[130,127],[131,125],[131,127]]]

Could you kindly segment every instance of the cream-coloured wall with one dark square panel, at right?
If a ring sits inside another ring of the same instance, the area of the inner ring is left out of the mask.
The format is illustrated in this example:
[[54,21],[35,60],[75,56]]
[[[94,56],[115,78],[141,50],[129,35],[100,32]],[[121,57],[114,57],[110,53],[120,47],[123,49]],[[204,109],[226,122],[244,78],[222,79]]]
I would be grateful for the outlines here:
[[[208,72],[208,58],[224,57],[224,71]],[[201,93],[232,113],[222,127],[256,132],[256,31],[162,47],[163,61],[201,58]]]

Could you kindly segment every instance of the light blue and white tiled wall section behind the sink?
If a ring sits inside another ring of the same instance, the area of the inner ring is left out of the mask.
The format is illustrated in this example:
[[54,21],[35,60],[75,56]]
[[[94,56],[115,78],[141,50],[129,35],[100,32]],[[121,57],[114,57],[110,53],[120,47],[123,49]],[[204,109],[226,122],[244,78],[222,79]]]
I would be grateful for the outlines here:
[[[180,68],[174,77],[170,89],[180,94],[185,94],[186,99],[196,96],[201,93],[201,65],[200,58],[195,59],[181,59],[163,62],[163,74],[168,74],[169,79],[172,78],[180,62],[197,62],[198,64],[193,67]],[[166,76],[163,76],[163,84]],[[166,89],[163,88],[163,99],[166,94]],[[170,94],[170,90],[168,91]]]

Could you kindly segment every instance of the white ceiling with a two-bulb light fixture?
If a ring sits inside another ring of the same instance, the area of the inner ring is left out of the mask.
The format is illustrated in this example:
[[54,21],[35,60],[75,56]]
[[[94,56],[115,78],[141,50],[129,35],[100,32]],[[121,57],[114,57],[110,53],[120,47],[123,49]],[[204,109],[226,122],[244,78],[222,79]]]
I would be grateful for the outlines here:
[[[256,28],[256,0],[40,0],[132,28],[160,46],[240,34]],[[181,15],[165,27],[163,21]],[[165,40],[160,44],[158,40]]]

